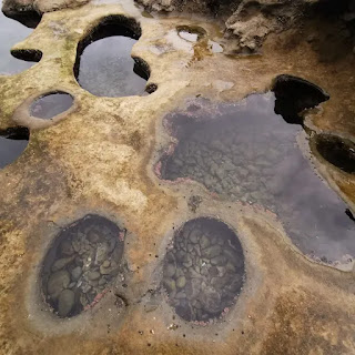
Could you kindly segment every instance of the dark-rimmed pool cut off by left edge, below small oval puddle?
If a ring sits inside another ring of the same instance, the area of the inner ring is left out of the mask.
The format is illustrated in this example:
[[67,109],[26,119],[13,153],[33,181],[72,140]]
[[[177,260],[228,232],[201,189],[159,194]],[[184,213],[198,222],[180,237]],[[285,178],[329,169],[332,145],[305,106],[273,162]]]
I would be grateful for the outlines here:
[[16,161],[29,144],[27,128],[11,128],[0,131],[0,169]]

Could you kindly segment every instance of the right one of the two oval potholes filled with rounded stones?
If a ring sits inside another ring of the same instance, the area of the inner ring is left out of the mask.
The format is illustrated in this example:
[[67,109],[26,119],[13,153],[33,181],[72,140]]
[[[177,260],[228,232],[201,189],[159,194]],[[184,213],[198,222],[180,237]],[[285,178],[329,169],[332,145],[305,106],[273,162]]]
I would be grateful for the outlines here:
[[235,302],[245,277],[236,234],[223,222],[200,217],[174,235],[163,265],[169,303],[185,321],[209,322]]

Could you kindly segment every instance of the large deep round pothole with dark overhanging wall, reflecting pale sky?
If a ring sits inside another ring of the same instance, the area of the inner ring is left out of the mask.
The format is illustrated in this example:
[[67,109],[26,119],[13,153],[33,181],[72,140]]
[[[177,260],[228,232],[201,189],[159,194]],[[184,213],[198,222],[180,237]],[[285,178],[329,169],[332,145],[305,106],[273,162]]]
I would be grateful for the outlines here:
[[98,97],[143,94],[150,69],[142,59],[131,57],[140,37],[141,28],[133,19],[103,19],[79,43],[74,67],[79,84]]

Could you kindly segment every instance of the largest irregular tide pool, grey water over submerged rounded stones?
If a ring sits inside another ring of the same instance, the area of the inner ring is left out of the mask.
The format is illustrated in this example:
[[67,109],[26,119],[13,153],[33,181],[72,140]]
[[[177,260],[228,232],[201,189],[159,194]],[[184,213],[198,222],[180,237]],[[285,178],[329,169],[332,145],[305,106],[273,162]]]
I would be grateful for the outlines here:
[[162,159],[163,179],[193,179],[226,200],[263,205],[296,246],[324,262],[355,255],[346,204],[303,156],[296,143],[302,128],[274,113],[273,93],[240,105],[199,104],[165,119],[179,143]]

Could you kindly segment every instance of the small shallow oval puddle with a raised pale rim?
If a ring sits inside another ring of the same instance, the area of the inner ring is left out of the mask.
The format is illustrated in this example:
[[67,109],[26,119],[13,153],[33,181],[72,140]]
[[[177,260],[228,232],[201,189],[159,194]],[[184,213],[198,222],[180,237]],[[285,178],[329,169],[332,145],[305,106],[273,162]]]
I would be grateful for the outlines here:
[[73,97],[65,92],[52,92],[38,98],[30,108],[30,114],[44,120],[65,112],[73,104]]

